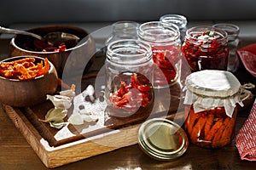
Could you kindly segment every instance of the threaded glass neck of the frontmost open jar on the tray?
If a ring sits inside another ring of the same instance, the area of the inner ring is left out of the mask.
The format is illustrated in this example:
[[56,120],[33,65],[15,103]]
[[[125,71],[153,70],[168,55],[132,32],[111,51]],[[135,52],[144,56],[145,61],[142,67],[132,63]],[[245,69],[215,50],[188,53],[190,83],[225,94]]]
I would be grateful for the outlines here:
[[151,47],[140,40],[119,40],[111,42],[107,49],[107,59],[118,65],[139,65],[152,59]]

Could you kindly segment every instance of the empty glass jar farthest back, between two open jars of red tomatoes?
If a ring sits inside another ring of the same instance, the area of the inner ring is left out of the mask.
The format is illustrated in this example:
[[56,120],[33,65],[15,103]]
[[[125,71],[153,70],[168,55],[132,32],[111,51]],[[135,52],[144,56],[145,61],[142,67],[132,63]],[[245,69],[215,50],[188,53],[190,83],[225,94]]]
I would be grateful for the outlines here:
[[187,23],[188,23],[188,20],[185,16],[181,14],[165,14],[160,17],[160,21],[169,22],[177,25],[180,32],[181,42],[184,41],[186,36],[186,31],[187,31]]

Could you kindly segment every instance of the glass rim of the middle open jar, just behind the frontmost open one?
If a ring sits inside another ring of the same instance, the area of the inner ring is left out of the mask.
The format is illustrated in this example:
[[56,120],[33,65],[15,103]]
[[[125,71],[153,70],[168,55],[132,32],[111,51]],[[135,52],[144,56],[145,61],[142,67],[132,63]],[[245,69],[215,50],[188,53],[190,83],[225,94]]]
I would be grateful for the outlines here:
[[177,25],[163,21],[150,21],[139,26],[138,36],[151,43],[176,42],[180,31]]

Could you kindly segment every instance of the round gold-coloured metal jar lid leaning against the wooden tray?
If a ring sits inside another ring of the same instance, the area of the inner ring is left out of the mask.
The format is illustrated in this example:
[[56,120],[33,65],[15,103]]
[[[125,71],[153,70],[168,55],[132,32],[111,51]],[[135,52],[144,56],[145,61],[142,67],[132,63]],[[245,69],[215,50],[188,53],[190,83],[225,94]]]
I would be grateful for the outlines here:
[[138,144],[148,156],[160,161],[172,161],[183,155],[189,141],[177,123],[154,118],[143,122],[139,128]]

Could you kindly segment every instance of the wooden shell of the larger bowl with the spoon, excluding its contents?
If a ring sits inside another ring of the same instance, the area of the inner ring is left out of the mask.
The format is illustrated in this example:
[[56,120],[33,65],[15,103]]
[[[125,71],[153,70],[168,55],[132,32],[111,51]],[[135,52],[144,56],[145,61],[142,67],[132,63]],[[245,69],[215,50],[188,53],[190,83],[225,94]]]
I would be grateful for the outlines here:
[[[35,40],[33,37],[24,35],[16,35],[9,43],[9,56],[21,56],[21,55],[32,55],[39,56],[42,58],[48,58],[49,61],[55,65],[55,69],[59,77],[62,77],[62,73],[65,70],[76,72],[88,71],[94,60],[94,54],[96,52],[95,42],[87,31],[79,27],[74,26],[41,26],[33,28],[27,31],[36,33],[42,37],[49,32],[63,31],[72,33],[80,38],[80,41],[73,48],[67,48],[66,51],[62,52],[42,52],[32,51],[22,46],[27,42]],[[81,71],[82,70],[82,71]]]

